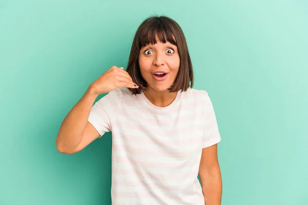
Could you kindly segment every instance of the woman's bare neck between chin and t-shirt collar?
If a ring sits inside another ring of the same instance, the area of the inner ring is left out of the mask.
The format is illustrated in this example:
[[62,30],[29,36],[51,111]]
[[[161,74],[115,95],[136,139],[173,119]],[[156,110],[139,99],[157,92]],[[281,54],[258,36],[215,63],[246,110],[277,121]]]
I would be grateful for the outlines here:
[[177,92],[157,91],[152,88],[148,88],[143,91],[146,98],[157,107],[167,107],[170,105],[177,97]]

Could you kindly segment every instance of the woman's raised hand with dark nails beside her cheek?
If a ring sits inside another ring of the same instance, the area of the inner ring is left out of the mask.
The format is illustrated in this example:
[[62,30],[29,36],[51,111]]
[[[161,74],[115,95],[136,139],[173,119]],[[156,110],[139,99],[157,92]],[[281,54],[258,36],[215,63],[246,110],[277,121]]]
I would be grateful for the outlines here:
[[138,88],[139,86],[133,83],[132,78],[123,67],[112,66],[95,80],[90,87],[95,94],[100,95],[109,93],[119,87]]

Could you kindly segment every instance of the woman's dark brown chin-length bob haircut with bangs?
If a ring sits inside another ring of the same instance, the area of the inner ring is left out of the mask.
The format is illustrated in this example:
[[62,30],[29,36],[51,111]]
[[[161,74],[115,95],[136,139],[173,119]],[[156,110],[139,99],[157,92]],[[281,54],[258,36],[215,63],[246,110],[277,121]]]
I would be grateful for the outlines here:
[[142,47],[149,44],[156,44],[156,35],[160,42],[171,43],[178,48],[180,56],[180,67],[177,77],[169,92],[186,91],[194,85],[194,74],[187,48],[186,39],[181,27],[175,20],[167,16],[150,16],[142,22],[133,38],[129,60],[126,71],[131,76],[132,81],[139,85],[139,88],[128,88],[134,95],[141,94],[147,89],[147,83],[143,79],[139,67],[139,53]]

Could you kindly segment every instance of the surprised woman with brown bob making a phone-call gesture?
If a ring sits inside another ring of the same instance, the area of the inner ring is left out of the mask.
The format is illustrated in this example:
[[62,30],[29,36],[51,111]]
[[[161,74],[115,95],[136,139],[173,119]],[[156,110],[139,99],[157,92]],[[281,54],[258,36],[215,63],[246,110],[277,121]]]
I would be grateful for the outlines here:
[[126,71],[112,66],[89,86],[65,117],[57,150],[79,152],[112,131],[112,204],[220,204],[221,137],[211,100],[192,89],[193,79],[180,26],[147,18]]

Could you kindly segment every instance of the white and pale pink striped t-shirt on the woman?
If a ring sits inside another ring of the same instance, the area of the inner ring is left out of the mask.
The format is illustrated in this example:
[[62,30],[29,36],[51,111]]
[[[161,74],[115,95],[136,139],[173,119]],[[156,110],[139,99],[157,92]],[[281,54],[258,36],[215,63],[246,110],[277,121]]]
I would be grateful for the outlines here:
[[162,108],[118,88],[93,105],[88,121],[101,135],[112,132],[113,205],[204,205],[202,148],[221,140],[206,91],[179,91]]

